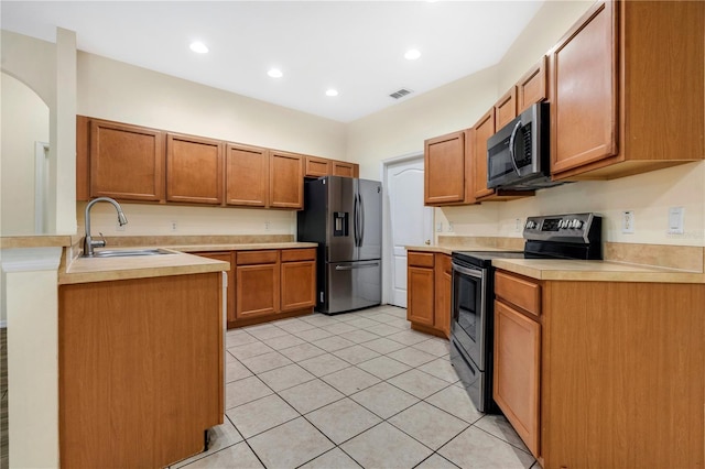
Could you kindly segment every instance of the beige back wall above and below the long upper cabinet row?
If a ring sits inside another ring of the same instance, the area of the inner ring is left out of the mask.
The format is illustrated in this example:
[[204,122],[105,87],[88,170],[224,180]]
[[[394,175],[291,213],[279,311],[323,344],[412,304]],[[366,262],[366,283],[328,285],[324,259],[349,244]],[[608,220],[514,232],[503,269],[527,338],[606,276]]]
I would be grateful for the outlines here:
[[[345,160],[346,129],[340,122],[84,52],[78,53],[78,90],[79,114]],[[296,232],[292,211],[139,204],[123,208],[129,219],[124,231],[116,230],[109,206],[91,210],[91,230],[106,236]],[[171,221],[177,222],[176,232]]]

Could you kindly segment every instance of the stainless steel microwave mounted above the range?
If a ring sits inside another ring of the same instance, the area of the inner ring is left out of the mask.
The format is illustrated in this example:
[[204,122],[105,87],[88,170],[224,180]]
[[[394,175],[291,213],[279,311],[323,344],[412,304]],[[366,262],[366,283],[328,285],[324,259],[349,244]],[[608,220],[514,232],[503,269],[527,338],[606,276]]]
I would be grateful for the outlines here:
[[530,190],[551,187],[549,103],[517,116],[487,140],[487,187]]

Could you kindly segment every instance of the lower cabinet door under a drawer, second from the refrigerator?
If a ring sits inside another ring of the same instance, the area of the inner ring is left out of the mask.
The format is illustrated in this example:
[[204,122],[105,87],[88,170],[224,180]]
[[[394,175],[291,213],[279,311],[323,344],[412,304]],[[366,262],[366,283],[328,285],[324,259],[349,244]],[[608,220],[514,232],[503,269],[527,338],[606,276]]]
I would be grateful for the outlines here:
[[273,264],[238,265],[236,318],[245,319],[280,310],[279,262]]

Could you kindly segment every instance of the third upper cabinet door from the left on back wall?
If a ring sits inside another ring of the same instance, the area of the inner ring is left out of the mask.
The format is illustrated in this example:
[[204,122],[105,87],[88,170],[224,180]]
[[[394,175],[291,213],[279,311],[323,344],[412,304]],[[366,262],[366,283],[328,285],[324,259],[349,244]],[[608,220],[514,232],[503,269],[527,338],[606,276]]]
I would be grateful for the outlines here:
[[226,204],[267,207],[268,188],[268,151],[229,144],[226,150]]

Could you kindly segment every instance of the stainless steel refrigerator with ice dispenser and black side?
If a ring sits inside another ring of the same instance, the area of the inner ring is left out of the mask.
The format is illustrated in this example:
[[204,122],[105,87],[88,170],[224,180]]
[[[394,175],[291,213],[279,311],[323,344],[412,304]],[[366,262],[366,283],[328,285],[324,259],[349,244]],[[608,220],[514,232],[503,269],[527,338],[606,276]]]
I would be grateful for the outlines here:
[[325,176],[304,184],[297,240],[318,243],[317,307],[325,314],[382,298],[382,184]]

